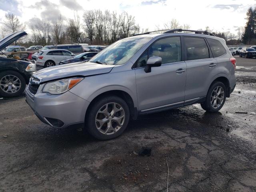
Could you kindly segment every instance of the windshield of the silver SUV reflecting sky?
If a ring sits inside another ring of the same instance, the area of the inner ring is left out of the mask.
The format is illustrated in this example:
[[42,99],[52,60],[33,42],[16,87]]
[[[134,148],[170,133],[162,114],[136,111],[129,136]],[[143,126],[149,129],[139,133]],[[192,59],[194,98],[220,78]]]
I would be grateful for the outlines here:
[[119,40],[98,53],[90,62],[108,65],[125,64],[151,38],[128,38]]

